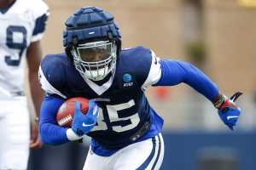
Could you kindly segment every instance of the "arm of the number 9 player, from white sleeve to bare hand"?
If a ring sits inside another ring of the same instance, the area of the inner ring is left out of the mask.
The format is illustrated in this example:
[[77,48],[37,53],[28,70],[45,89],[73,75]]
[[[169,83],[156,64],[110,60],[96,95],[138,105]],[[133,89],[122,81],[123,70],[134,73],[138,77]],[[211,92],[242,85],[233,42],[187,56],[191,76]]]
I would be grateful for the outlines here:
[[30,3],[32,11],[32,37],[30,45],[26,51],[28,65],[29,86],[32,95],[32,103],[36,111],[35,121],[32,122],[32,135],[30,147],[36,149],[41,146],[41,140],[38,135],[38,117],[40,105],[44,96],[38,82],[38,68],[42,59],[40,40],[44,35],[46,21],[49,16],[49,8],[43,1],[33,1]]

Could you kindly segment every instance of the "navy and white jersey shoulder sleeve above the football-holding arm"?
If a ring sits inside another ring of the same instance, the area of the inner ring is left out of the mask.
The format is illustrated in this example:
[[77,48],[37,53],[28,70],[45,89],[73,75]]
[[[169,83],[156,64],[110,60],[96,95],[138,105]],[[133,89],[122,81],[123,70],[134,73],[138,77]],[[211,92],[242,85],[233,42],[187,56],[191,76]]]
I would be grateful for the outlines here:
[[46,55],[38,71],[39,82],[46,94],[57,94],[61,98],[67,99],[67,96],[62,93],[66,84],[63,74],[61,59],[56,58],[55,55]]

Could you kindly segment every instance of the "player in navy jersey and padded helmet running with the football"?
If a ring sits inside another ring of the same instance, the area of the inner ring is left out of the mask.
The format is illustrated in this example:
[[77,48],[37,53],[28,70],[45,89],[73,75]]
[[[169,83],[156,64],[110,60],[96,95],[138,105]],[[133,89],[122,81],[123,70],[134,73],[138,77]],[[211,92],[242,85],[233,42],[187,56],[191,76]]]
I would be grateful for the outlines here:
[[[84,7],[72,14],[63,34],[64,54],[49,54],[39,77],[47,95],[41,107],[40,134],[45,144],[92,138],[84,163],[88,169],[160,169],[164,156],[163,119],[150,107],[149,86],[195,88],[218,109],[233,129],[240,116],[234,101],[187,62],[160,59],[148,48],[121,48],[119,27],[102,8]],[[73,97],[90,99],[86,115],[76,102],[71,128],[57,126],[60,105]]]

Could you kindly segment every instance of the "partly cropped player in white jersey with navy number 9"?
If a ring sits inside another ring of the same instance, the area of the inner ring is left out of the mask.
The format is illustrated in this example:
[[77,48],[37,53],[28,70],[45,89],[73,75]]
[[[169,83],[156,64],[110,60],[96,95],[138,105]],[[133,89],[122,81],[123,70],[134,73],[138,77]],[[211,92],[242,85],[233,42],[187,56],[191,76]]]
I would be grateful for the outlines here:
[[38,82],[40,39],[48,9],[41,0],[0,0],[0,169],[3,170],[25,170],[29,145],[37,148],[41,144],[38,123],[33,121],[30,141],[24,74],[26,61],[32,101],[39,115],[44,98]]

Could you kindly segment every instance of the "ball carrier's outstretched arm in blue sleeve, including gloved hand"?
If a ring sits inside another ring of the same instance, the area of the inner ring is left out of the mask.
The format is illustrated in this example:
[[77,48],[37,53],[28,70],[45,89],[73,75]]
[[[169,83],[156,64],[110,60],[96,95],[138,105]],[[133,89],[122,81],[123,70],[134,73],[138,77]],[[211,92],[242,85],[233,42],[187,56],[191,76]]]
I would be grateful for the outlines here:
[[181,82],[195,88],[197,92],[209,99],[218,109],[221,120],[230,129],[234,129],[240,116],[241,109],[235,100],[241,93],[234,94],[230,99],[218,92],[218,86],[202,71],[187,62],[179,60],[161,59],[161,77],[156,86],[174,86]]

